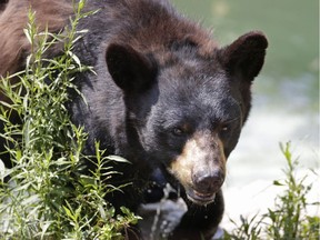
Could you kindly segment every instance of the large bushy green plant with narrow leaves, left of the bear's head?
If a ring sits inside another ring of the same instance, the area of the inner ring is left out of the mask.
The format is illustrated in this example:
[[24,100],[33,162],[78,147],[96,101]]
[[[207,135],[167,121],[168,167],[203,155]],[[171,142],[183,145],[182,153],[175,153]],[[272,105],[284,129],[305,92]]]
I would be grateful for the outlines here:
[[[32,51],[26,70],[1,79],[0,89],[11,102],[0,102],[0,134],[14,167],[4,172],[9,182],[0,180],[0,239],[122,239],[139,219],[126,208],[116,216],[104,200],[118,190],[109,183],[117,174],[110,162],[127,161],[104,157],[99,143],[96,156],[83,156],[87,134],[72,124],[64,107],[70,91],[80,94],[74,73],[91,71],[72,52],[86,33],[77,30],[79,20],[92,14],[82,13],[83,6],[74,4],[70,27],[59,34],[38,32],[30,11],[24,32]],[[63,53],[47,59],[54,44],[62,44]],[[11,83],[12,78],[19,81]],[[12,114],[20,123],[11,121]],[[86,161],[94,168],[86,169]]]

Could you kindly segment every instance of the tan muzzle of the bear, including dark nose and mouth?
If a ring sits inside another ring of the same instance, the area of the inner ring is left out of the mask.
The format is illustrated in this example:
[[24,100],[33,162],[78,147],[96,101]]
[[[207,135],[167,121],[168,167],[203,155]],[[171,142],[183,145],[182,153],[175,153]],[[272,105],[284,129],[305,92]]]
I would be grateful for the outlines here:
[[199,206],[214,201],[226,177],[222,142],[212,144],[206,139],[206,142],[199,137],[187,141],[182,153],[168,168],[183,187],[188,199]]

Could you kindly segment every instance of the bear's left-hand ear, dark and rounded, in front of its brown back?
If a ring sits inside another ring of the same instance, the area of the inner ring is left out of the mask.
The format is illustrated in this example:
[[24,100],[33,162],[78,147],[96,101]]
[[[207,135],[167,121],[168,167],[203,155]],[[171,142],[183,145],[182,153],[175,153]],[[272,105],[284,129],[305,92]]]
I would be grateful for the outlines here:
[[111,43],[106,52],[109,73],[126,93],[148,89],[156,79],[154,60],[130,46]]

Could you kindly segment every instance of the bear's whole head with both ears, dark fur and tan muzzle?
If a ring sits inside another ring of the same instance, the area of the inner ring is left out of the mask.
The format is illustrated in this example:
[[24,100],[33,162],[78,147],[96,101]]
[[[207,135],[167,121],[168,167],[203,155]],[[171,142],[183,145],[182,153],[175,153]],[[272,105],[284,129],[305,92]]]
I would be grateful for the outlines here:
[[163,66],[129,46],[107,50],[109,72],[123,91],[146,161],[197,204],[214,201],[223,183],[266,48],[264,36],[250,32],[210,57],[186,44]]

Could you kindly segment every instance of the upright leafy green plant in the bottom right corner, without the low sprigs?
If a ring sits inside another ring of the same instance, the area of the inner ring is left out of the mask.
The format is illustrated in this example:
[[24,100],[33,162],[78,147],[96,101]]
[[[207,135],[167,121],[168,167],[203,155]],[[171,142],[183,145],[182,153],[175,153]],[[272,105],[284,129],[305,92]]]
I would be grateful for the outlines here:
[[268,227],[268,234],[276,239],[319,239],[319,218],[306,216],[308,204],[306,196],[312,186],[304,186],[307,176],[301,180],[296,178],[298,160],[292,159],[290,144],[281,146],[281,150],[288,163],[288,169],[284,171],[287,178],[283,183],[274,181],[274,184],[286,186],[287,190],[279,197],[277,209],[269,209],[267,217],[272,223]]

